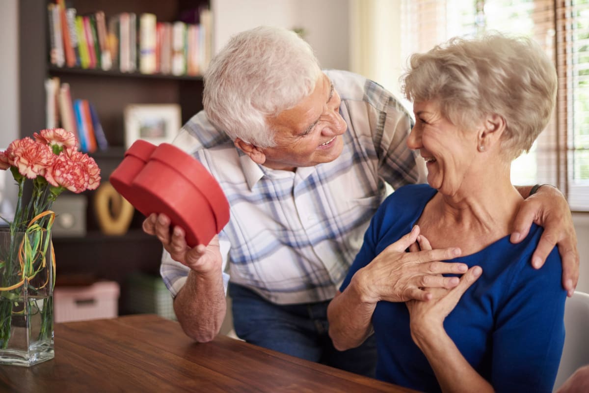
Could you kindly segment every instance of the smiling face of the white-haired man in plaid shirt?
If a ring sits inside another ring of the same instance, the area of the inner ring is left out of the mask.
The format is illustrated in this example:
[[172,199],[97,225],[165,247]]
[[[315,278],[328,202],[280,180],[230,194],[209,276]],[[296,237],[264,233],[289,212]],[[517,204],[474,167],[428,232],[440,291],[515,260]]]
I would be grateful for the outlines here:
[[264,166],[294,170],[329,163],[342,153],[348,126],[339,114],[341,100],[327,75],[321,74],[313,93],[296,107],[269,118],[276,146],[263,148]]

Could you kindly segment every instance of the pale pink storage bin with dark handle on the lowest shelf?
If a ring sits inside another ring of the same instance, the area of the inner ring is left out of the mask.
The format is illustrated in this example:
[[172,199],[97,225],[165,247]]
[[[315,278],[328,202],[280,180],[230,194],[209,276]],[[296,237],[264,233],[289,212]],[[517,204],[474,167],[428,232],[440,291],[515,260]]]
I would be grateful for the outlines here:
[[55,322],[115,318],[119,293],[119,285],[114,281],[57,287],[53,291]]

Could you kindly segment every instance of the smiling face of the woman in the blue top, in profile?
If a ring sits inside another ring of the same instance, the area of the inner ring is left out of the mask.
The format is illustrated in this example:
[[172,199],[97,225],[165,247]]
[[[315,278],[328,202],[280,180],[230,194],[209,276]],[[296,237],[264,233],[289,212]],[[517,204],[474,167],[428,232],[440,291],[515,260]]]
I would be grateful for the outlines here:
[[428,167],[428,183],[442,194],[453,195],[469,176],[477,154],[477,133],[461,130],[439,110],[436,101],[413,103],[415,126],[407,145]]

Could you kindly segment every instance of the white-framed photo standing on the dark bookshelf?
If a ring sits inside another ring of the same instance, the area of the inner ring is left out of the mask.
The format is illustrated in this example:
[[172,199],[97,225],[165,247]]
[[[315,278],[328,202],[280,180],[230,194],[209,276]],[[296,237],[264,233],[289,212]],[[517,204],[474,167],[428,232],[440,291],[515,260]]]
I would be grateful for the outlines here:
[[130,104],[125,107],[125,148],[143,139],[171,143],[181,126],[178,104]]

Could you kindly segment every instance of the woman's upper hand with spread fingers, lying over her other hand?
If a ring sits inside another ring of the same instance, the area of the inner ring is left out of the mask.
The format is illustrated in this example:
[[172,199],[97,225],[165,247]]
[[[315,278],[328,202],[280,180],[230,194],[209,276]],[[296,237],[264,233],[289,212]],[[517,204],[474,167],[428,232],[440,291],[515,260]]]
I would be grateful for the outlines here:
[[443,277],[442,273],[464,273],[464,263],[439,262],[459,256],[461,250],[446,249],[405,252],[419,236],[419,226],[383,250],[366,267],[356,273],[362,300],[376,303],[405,302],[410,299],[428,300],[431,293],[424,288],[452,288],[458,285],[457,277]]

